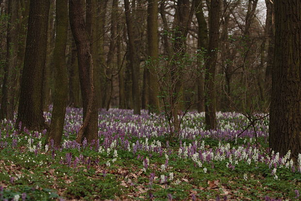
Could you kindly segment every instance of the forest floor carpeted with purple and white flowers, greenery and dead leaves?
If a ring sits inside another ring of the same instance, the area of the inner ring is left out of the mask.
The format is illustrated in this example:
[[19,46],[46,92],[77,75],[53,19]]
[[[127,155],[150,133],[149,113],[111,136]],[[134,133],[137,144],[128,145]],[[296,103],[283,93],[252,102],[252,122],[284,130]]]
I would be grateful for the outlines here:
[[[180,137],[168,141],[164,121],[131,110],[99,113],[94,145],[74,140],[82,110],[67,108],[63,146],[42,146],[43,133],[0,124],[0,200],[300,200],[301,164],[289,153],[269,154],[268,118],[257,124],[217,113],[217,131],[205,131],[204,114],[189,112]],[[45,113],[47,121],[51,114]],[[299,161],[301,163],[301,161]]]

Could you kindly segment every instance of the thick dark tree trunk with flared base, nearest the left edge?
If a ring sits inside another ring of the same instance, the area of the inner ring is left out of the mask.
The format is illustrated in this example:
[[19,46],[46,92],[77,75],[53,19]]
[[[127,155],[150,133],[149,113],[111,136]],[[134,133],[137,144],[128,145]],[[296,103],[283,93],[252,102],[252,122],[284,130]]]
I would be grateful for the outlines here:
[[31,130],[45,128],[42,91],[49,7],[49,0],[30,1],[17,125],[22,122],[22,127]]

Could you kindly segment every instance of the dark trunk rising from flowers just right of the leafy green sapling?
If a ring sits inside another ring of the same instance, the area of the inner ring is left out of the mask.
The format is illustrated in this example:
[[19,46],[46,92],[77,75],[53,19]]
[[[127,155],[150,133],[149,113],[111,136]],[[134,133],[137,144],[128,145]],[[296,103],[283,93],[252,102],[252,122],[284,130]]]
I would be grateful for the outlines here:
[[219,36],[220,1],[211,0],[209,11],[209,45],[205,63],[205,123],[207,129],[216,129],[216,86],[215,71],[217,63],[217,47]]

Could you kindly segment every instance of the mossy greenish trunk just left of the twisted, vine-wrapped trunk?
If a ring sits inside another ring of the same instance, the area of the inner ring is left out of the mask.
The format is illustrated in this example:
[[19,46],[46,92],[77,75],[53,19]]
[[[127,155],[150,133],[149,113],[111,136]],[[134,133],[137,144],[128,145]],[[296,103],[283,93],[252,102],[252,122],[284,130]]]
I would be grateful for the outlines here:
[[65,53],[67,46],[68,29],[68,0],[56,1],[56,37],[54,47],[55,64],[55,88],[53,95],[53,109],[50,129],[48,131],[48,141],[52,139],[55,146],[60,146],[67,106],[67,68]]

